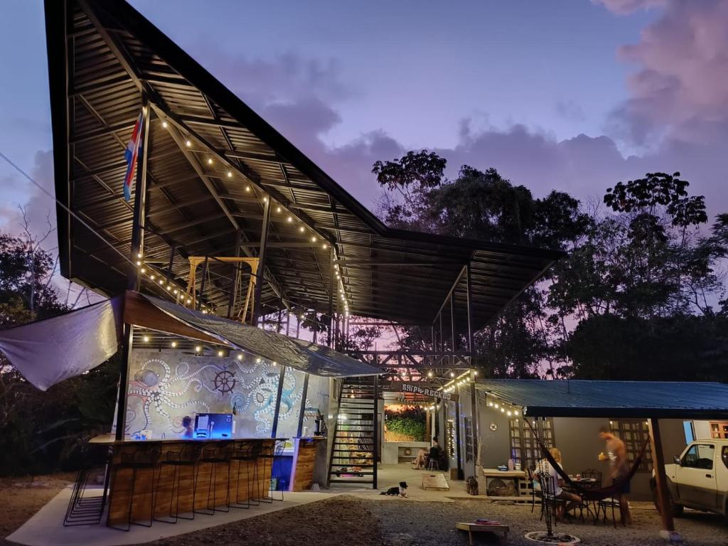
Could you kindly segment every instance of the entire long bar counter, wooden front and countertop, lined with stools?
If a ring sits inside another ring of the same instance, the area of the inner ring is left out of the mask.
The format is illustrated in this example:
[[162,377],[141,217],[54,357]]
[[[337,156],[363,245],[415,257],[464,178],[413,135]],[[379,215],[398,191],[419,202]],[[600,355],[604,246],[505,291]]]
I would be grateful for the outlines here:
[[[90,443],[111,447],[111,483],[106,524],[126,526],[130,521],[149,524],[153,499],[154,518],[169,520],[170,514],[189,517],[193,511],[193,492],[194,510],[207,512],[212,507],[227,510],[226,505],[236,501],[248,502],[248,491],[252,491],[251,498],[269,496],[271,457],[275,443],[280,440],[285,439],[116,440],[113,435],[92,438]],[[199,454],[194,457],[194,462],[170,464],[175,460],[190,459],[189,455],[196,451]],[[246,452],[258,455],[252,456],[250,460],[232,459],[229,466],[227,462],[213,464],[202,460],[229,459],[231,454]],[[269,457],[261,457],[260,454],[268,454]],[[257,480],[254,480],[256,470]],[[132,479],[134,476],[135,479]]]

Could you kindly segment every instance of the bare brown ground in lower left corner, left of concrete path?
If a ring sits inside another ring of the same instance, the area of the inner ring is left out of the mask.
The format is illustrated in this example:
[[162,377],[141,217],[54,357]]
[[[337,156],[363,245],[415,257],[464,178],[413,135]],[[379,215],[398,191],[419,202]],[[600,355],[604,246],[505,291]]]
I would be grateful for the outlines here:
[[61,489],[73,483],[73,472],[62,474],[0,478],[0,545],[7,542],[12,531],[23,525],[28,518],[56,496]]

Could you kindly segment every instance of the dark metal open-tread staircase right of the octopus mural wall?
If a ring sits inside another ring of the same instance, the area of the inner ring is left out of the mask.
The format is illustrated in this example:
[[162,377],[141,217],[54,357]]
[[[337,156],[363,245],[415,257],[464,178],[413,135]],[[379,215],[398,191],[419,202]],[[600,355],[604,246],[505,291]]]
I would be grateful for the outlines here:
[[348,377],[339,394],[328,483],[371,484],[376,489],[377,378]]

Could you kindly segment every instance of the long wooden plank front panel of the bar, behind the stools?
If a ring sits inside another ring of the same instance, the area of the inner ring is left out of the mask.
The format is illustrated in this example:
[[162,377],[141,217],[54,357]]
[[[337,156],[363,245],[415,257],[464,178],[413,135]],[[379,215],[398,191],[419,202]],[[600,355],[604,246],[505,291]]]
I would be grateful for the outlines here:
[[[183,464],[175,467],[173,464],[161,464],[167,460],[167,453],[179,452],[190,442],[202,444],[203,449],[210,449],[221,444],[233,448],[242,444],[256,443],[263,451],[273,452],[275,439],[249,438],[239,440],[142,440],[142,441],[112,441],[113,456],[111,465],[111,483],[109,488],[108,518],[106,524],[119,526],[128,523],[130,494],[132,493],[132,476],[134,470],[125,467],[122,463],[122,452],[130,453],[138,446],[149,446],[157,443],[160,448],[160,456],[157,464],[152,468],[138,468],[134,485],[134,496],[132,502],[131,521],[146,521],[151,518],[152,503],[152,479],[154,479],[154,491],[156,499],[154,502],[154,517],[169,518],[170,513],[177,512],[177,496],[179,495],[179,513],[190,513],[192,507],[193,484],[197,475],[197,490],[194,491],[194,510],[206,510],[208,506],[226,505],[226,483],[228,482],[228,467],[226,463],[217,464],[214,475],[215,498],[213,499],[213,487],[210,484],[210,472],[213,472],[213,464],[197,462],[196,464]],[[156,446],[155,446],[156,447]],[[256,451],[260,451],[259,449]],[[248,480],[253,480],[254,466],[258,466],[258,483],[253,484],[253,496],[269,496],[271,478],[271,459],[258,458],[255,461],[230,462],[229,492],[230,502],[236,499],[245,503],[248,499]],[[175,470],[179,472],[179,489],[177,490]],[[154,478],[152,477],[154,472]],[[240,486],[238,485],[240,483]],[[175,488],[174,496],[173,487]],[[256,493],[260,491],[259,495]],[[209,502],[208,502],[209,496]],[[171,505],[170,505],[171,502]]]

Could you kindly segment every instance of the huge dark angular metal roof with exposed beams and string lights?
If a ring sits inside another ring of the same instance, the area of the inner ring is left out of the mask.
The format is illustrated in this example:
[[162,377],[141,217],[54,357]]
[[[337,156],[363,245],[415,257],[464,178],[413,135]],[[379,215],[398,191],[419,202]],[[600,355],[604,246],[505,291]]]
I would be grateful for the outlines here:
[[[352,314],[406,324],[431,323],[470,264],[479,327],[561,257],[389,229],[129,4],[47,0],[45,10],[56,196],[130,253],[133,202],[122,197],[123,151],[146,95],[153,115],[145,259],[166,268],[173,247],[180,285],[184,258],[232,256],[237,233],[242,255],[257,255],[266,195],[275,210],[264,312],[283,305],[325,312],[341,288],[333,247]],[[105,293],[125,288],[127,265],[118,253],[63,207],[58,237],[65,277]],[[205,293],[218,308],[232,288],[222,268],[210,262]],[[452,293],[455,320],[467,320],[464,288]]]

